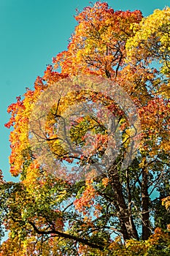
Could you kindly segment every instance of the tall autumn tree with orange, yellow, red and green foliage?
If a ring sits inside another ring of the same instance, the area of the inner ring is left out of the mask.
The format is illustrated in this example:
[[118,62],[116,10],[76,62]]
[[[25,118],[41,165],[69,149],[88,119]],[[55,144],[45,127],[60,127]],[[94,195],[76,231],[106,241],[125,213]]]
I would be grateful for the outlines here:
[[[1,178],[1,222],[9,230],[1,255],[169,255],[169,16],[169,7],[143,18],[101,2],[77,12],[68,49],[9,106],[10,171],[20,181]],[[87,80],[92,86],[83,89],[79,81]],[[104,91],[92,90],[95,83]],[[72,90],[63,95],[65,84]],[[139,132],[112,97],[115,84],[120,99],[126,95],[135,105]],[[81,102],[85,116],[68,125],[64,113]],[[109,167],[102,165],[108,147],[117,152]],[[90,165],[102,171],[93,175]],[[88,169],[85,178],[78,173]]]

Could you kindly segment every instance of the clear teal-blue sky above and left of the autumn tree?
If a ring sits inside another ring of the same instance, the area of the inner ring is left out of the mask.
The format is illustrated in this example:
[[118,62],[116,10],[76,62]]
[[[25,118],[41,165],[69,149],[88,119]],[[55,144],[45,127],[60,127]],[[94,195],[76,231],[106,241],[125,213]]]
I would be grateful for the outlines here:
[[[144,16],[170,4],[170,0],[107,2],[115,10],[141,10]],[[7,107],[26,87],[33,88],[53,56],[66,50],[77,24],[75,9],[88,5],[89,0],[0,0],[0,168],[7,180],[15,180],[9,175]]]

